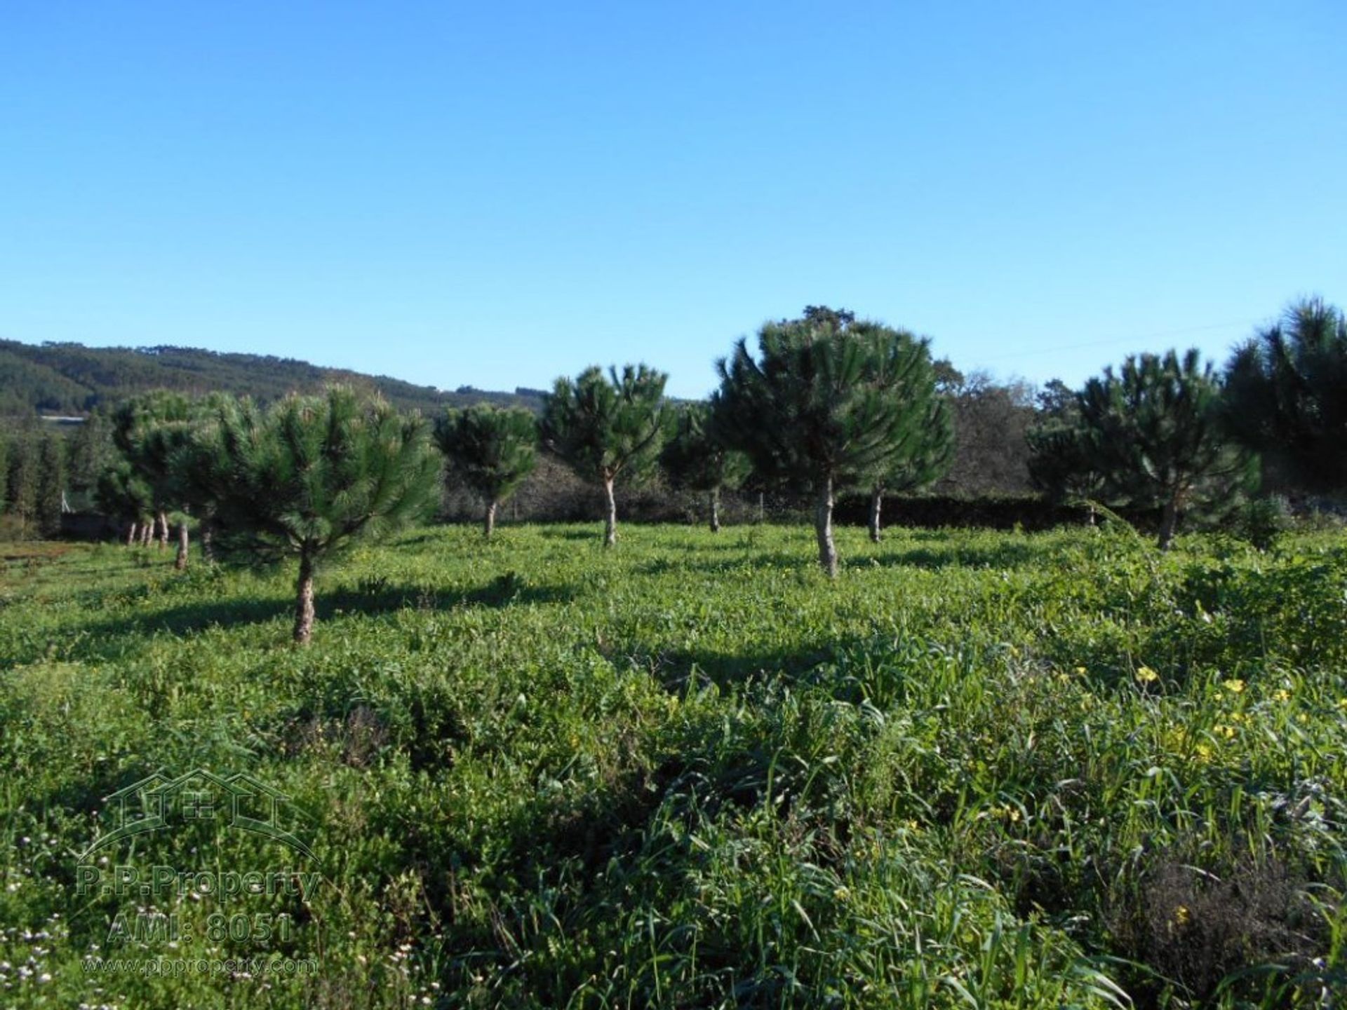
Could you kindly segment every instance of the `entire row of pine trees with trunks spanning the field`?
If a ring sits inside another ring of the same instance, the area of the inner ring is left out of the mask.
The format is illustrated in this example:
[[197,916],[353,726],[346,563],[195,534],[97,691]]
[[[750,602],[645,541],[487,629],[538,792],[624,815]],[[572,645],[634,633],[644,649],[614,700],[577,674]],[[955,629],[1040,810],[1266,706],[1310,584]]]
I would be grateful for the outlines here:
[[[1238,348],[1223,374],[1196,351],[1171,351],[1127,358],[1080,390],[1049,385],[1028,434],[1033,479],[1059,500],[1157,508],[1162,549],[1185,515],[1253,494],[1261,461],[1281,479],[1340,488],[1344,368],[1343,313],[1307,301]],[[839,494],[870,499],[878,539],[884,496],[936,485],[951,467],[951,379],[925,338],[811,305],[765,324],[753,348],[737,342],[717,371],[706,403],[671,402],[667,375],[645,364],[590,367],[559,378],[540,416],[474,405],[434,425],[345,386],[269,406],[156,391],[112,414],[117,453],[97,499],[128,543],[167,546],[172,519],[179,568],[190,525],[207,557],[295,558],[294,633],[307,642],[321,565],[427,515],[442,480],[481,496],[490,537],[498,508],[548,455],[602,498],[607,547],[616,488],[656,472],[703,496],[713,531],[727,488],[803,494],[819,565],[835,576]]]

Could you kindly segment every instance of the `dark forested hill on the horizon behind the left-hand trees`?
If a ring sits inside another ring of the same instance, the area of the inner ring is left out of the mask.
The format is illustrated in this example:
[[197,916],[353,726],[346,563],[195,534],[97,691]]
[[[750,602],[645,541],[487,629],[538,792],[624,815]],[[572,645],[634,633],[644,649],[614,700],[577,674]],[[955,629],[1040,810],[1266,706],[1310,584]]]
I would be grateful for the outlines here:
[[275,399],[292,390],[313,391],[331,382],[377,389],[400,409],[435,414],[445,406],[481,401],[537,407],[539,390],[485,393],[461,387],[445,393],[387,375],[322,368],[294,358],[217,354],[193,347],[85,347],[75,343],[23,344],[0,340],[0,414],[88,414],[100,405],[150,389],[183,393],[222,390]]

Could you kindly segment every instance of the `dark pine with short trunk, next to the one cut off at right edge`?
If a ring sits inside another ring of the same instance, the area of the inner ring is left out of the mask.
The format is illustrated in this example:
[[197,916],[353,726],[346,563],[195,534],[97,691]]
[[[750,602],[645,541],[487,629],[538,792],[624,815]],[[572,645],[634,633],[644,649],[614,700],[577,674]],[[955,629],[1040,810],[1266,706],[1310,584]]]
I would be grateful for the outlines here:
[[1196,350],[1130,356],[1106,368],[1079,398],[1090,468],[1110,492],[1164,512],[1161,547],[1180,515],[1238,503],[1257,483],[1257,460],[1226,436],[1220,386]]

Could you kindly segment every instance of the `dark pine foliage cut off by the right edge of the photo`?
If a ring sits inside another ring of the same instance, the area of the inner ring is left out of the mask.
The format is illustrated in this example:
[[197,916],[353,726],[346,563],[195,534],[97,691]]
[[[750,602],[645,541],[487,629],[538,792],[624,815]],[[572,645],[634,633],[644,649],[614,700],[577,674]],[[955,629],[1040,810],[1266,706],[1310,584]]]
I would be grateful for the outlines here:
[[1294,487],[1347,488],[1347,316],[1320,299],[1290,305],[1280,323],[1226,366],[1227,424]]

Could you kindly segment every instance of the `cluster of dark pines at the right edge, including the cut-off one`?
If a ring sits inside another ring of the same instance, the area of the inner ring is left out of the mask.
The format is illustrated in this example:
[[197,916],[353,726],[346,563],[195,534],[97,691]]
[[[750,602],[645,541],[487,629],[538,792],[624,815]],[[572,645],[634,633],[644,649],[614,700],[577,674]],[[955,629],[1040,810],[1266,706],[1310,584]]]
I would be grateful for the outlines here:
[[1167,550],[1185,515],[1227,514],[1261,487],[1347,485],[1347,319],[1321,299],[1290,305],[1222,373],[1196,350],[1129,356],[1044,394],[1030,473],[1053,500],[1153,508]]

